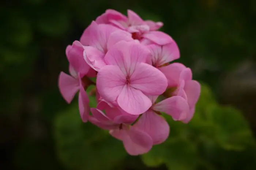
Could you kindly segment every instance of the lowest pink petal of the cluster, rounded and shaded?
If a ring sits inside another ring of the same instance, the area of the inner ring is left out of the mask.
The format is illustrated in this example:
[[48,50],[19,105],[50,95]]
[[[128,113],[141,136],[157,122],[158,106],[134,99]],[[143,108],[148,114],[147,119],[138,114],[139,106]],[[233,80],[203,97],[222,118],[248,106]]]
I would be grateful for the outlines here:
[[151,150],[153,141],[146,132],[130,127],[123,137],[124,148],[130,155],[141,155]]

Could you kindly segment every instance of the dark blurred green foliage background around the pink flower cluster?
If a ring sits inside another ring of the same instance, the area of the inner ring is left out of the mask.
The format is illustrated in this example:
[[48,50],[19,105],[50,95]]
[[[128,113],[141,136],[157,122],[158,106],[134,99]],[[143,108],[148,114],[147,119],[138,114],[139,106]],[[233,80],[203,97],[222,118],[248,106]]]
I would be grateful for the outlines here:
[[[162,21],[202,84],[192,121],[166,117],[169,139],[140,157],[83,124],[57,87],[65,47],[108,8]],[[1,1],[1,169],[256,169],[255,30],[255,0]]]

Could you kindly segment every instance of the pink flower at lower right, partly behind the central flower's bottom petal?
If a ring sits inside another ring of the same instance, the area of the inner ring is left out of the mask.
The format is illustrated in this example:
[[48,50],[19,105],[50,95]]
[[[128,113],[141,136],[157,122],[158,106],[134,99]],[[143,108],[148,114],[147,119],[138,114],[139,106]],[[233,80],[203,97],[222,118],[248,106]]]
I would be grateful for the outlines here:
[[142,114],[133,126],[146,132],[153,140],[153,144],[163,143],[169,136],[170,127],[160,112],[173,117],[174,120],[183,120],[189,111],[187,101],[180,96],[169,97],[155,103],[158,96],[150,96],[152,107]]

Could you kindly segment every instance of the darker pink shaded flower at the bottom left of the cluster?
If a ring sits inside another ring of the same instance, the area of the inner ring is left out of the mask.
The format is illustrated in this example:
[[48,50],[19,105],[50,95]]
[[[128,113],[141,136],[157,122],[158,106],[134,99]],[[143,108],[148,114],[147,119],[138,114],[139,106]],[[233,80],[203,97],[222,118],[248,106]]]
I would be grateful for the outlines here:
[[89,117],[89,121],[102,129],[110,130],[113,137],[123,141],[124,148],[130,155],[144,154],[151,149],[153,142],[150,136],[129,125],[138,116],[109,106],[105,111],[106,114],[99,109],[91,108],[92,116]]

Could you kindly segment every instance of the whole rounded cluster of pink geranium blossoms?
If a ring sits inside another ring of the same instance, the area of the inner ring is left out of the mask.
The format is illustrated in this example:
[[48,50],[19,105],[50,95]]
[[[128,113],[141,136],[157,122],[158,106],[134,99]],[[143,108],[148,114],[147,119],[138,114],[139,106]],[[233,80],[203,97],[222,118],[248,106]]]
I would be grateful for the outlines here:
[[[82,121],[109,130],[130,155],[144,154],[167,139],[170,128],[162,112],[188,123],[200,95],[191,69],[170,64],[180,52],[169,35],[157,31],[162,26],[131,10],[125,16],[108,9],[67,47],[70,75],[59,76],[67,103],[79,91]],[[86,93],[92,84],[96,108],[89,107]]]

